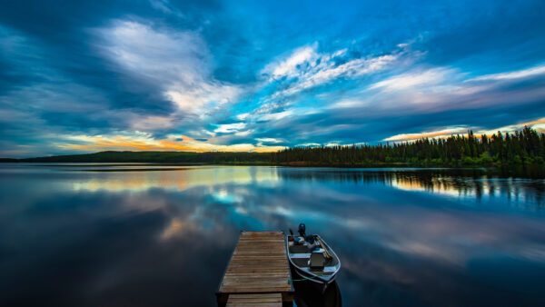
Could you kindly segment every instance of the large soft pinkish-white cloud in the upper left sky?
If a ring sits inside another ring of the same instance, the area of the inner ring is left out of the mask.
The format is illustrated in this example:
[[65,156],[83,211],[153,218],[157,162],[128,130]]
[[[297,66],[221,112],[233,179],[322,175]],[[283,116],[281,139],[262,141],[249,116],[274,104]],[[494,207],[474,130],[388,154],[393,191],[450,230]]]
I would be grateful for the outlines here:
[[127,74],[158,86],[180,114],[206,114],[241,93],[239,87],[213,78],[209,50],[193,31],[129,20],[94,31],[105,56]]

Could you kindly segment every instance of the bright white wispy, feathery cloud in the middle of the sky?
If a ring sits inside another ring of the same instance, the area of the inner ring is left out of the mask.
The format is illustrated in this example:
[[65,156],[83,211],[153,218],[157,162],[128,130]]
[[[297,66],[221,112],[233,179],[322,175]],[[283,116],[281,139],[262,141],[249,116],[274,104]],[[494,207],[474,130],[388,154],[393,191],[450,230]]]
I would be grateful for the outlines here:
[[[324,88],[324,91],[334,94],[339,87],[342,88],[343,82],[380,74],[394,68],[395,63],[411,62],[420,56],[416,52],[410,54],[409,50],[410,44],[407,44],[396,46],[391,53],[363,56],[349,54],[348,48],[319,52],[317,43],[303,45],[265,65],[260,72],[263,87],[256,94],[257,104],[252,111],[236,118],[254,123],[278,122],[320,113],[320,105],[302,106],[302,97],[305,97],[302,92],[328,85],[330,88]],[[408,56],[403,58],[406,54]],[[319,95],[312,94],[309,100],[318,100]]]

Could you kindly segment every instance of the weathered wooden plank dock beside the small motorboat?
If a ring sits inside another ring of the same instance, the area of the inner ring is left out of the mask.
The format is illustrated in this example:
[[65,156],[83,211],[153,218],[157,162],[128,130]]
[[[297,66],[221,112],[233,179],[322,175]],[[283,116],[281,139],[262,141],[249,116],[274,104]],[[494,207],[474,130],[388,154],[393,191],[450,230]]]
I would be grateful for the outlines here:
[[292,306],[291,278],[283,232],[241,232],[218,306]]

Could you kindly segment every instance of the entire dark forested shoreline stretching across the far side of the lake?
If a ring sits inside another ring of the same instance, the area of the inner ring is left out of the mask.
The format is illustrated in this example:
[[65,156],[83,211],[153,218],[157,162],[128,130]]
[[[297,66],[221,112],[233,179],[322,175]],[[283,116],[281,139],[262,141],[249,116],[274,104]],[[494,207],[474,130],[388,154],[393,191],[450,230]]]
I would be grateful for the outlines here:
[[452,135],[401,144],[292,147],[272,153],[105,151],[0,163],[156,163],[161,165],[279,165],[291,167],[536,167],[545,165],[545,134],[525,127],[515,134]]

